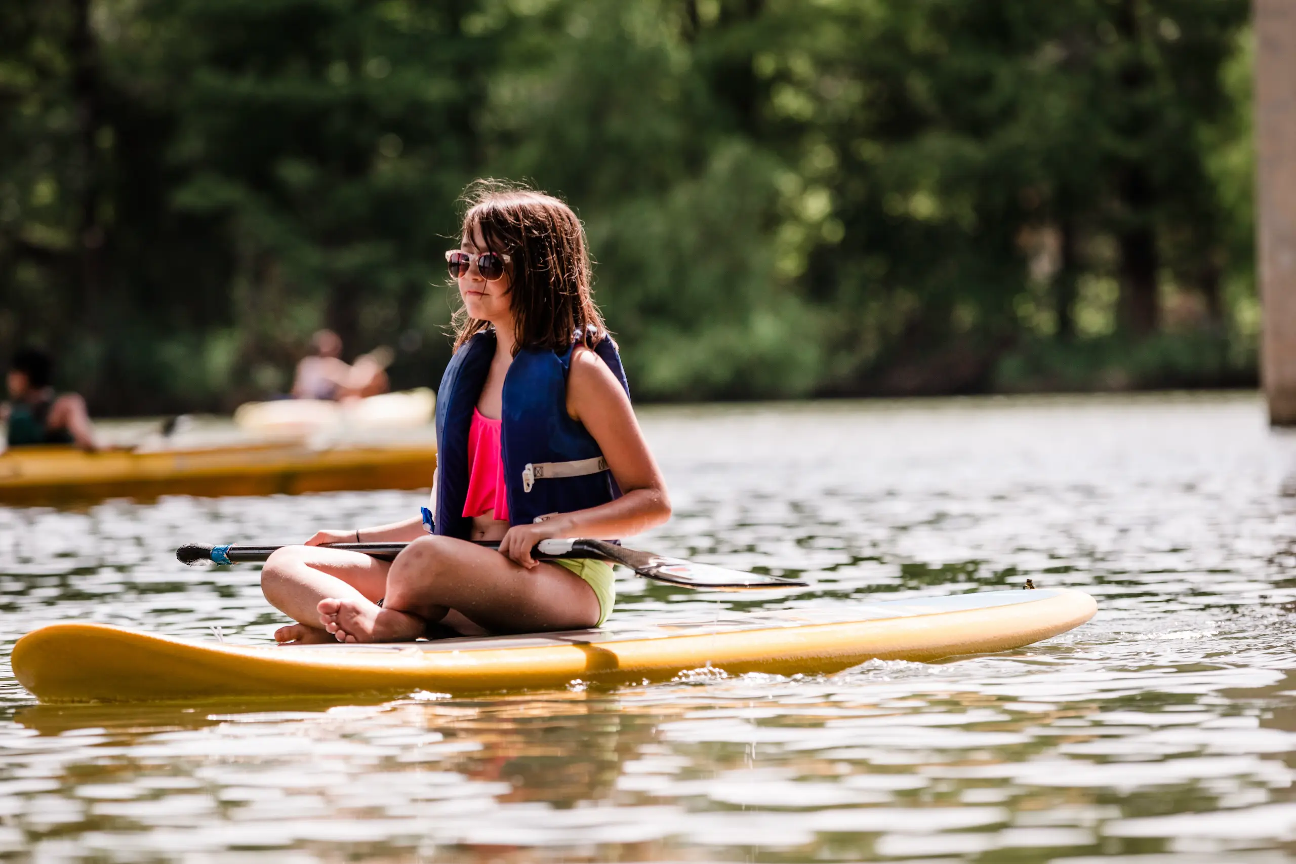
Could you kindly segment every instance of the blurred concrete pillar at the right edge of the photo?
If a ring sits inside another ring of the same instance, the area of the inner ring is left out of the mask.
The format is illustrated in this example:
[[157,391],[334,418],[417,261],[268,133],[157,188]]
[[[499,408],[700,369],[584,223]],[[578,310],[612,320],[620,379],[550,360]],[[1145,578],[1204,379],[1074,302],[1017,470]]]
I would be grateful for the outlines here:
[[1269,421],[1296,426],[1296,0],[1255,0],[1261,378]]

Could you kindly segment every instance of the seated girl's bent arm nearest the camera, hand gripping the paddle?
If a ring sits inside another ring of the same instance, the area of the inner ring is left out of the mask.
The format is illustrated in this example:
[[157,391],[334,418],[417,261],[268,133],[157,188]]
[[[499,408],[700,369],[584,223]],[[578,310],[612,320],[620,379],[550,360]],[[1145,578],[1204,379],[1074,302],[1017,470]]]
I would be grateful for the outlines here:
[[670,496],[630,398],[608,365],[588,348],[577,348],[568,373],[568,413],[584,424],[621,487],[616,501],[573,513],[557,513],[537,525],[508,530],[499,551],[534,567],[531,547],[548,538],[622,538],[670,518]]

